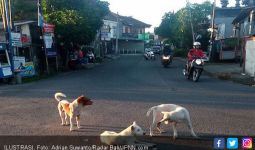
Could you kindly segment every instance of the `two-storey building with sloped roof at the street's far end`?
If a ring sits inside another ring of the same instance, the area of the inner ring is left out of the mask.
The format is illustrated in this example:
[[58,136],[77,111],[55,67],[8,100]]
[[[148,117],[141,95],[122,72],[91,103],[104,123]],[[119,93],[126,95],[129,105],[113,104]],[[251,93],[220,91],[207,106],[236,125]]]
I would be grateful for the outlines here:
[[105,54],[144,52],[144,41],[149,39],[145,29],[151,25],[112,12],[103,21],[101,41]]

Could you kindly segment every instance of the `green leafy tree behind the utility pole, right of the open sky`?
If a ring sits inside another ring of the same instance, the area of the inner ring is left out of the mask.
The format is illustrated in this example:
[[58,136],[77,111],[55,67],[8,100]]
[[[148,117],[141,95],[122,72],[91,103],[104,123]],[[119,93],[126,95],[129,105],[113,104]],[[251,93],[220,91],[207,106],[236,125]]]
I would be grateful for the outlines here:
[[162,18],[160,26],[155,29],[155,33],[163,38],[169,39],[177,47],[192,47],[190,13],[194,32],[197,35],[202,35],[202,39],[199,41],[202,43],[202,47],[207,47],[209,34],[207,28],[202,28],[201,24],[209,22],[209,16],[211,14],[211,3],[209,1],[202,4],[187,5],[176,13],[166,13]]

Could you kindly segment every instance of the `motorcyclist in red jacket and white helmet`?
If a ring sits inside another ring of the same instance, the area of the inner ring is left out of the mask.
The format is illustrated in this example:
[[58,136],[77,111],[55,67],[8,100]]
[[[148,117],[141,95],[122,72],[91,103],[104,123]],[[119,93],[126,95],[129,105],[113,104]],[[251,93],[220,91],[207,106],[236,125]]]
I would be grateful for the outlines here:
[[188,57],[187,57],[187,63],[186,63],[186,73],[189,72],[191,62],[195,58],[203,58],[205,57],[203,50],[200,49],[200,42],[194,42],[193,43],[193,48],[189,50],[188,52]]

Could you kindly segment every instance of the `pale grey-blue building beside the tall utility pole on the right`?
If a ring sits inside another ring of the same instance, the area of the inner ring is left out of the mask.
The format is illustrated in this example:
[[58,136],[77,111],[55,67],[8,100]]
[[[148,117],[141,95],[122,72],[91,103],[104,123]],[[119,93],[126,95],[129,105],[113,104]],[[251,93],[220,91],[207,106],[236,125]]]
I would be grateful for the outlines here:
[[211,60],[240,58],[240,47],[234,38],[232,22],[241,10],[242,8],[238,4],[237,7],[215,8],[214,27],[216,32],[213,39]]

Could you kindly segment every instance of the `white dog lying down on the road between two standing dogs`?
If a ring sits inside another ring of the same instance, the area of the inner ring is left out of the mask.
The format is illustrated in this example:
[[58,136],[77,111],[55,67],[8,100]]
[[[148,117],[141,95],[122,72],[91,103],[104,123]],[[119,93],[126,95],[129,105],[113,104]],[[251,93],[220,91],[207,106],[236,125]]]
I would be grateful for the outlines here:
[[104,131],[100,134],[100,140],[107,145],[128,145],[134,144],[136,136],[145,135],[143,129],[133,122],[132,125],[117,133],[114,131]]

